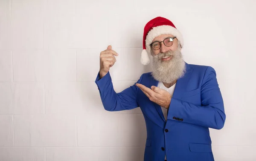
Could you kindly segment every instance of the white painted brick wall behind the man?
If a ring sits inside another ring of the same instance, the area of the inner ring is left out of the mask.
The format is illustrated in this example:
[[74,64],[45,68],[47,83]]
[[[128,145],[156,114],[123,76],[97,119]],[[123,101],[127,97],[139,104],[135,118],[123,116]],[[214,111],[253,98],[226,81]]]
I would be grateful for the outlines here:
[[142,112],[105,111],[94,80],[108,45],[119,53],[116,92],[150,71],[140,53],[144,25],[156,16],[183,33],[186,62],[217,72],[227,120],[210,129],[215,160],[255,161],[255,5],[0,0],[0,161],[142,161]]

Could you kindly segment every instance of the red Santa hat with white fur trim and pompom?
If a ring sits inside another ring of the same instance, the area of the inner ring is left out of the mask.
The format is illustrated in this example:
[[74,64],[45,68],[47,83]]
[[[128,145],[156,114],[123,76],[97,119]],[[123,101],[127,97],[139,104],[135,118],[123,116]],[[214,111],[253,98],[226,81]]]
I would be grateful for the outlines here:
[[177,37],[177,40],[180,42],[180,46],[183,46],[183,37],[181,33],[176,29],[174,24],[163,17],[155,17],[154,19],[150,20],[144,27],[144,34],[143,34],[143,51],[141,53],[140,62],[143,65],[148,65],[150,62],[148,53],[151,52],[150,44],[152,40],[164,34],[170,34]]

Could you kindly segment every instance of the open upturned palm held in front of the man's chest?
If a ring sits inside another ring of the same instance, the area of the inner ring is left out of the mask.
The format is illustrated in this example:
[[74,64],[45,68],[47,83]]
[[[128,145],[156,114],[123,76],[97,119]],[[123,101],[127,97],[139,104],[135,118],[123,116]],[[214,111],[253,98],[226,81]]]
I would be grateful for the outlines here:
[[157,86],[151,86],[151,89],[140,84],[136,83],[142,92],[149,98],[150,101],[157,103],[158,105],[169,109],[171,103],[171,94],[164,89],[160,89]]

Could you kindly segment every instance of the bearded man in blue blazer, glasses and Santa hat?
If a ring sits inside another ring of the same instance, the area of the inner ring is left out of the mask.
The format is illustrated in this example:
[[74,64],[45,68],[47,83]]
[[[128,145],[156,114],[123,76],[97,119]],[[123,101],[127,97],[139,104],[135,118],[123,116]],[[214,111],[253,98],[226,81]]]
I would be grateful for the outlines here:
[[221,129],[226,115],[215,70],[186,63],[180,50],[183,37],[163,17],[144,28],[141,63],[153,57],[152,72],[144,73],[133,86],[116,93],[109,69],[118,54],[108,46],[100,54],[95,80],[108,111],[140,107],[147,139],[144,161],[214,161],[209,128]]

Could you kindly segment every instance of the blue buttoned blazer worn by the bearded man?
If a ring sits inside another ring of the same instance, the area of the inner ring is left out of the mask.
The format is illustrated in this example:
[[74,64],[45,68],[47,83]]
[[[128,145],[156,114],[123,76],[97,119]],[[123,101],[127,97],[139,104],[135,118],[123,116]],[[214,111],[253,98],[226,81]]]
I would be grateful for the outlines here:
[[[170,75],[171,77],[171,75]],[[186,74],[177,80],[167,121],[162,109],[135,85],[116,93],[108,72],[95,80],[105,110],[140,107],[146,123],[144,161],[214,161],[209,128],[221,129],[226,115],[215,70],[186,63]],[[157,86],[151,72],[137,83]]]

